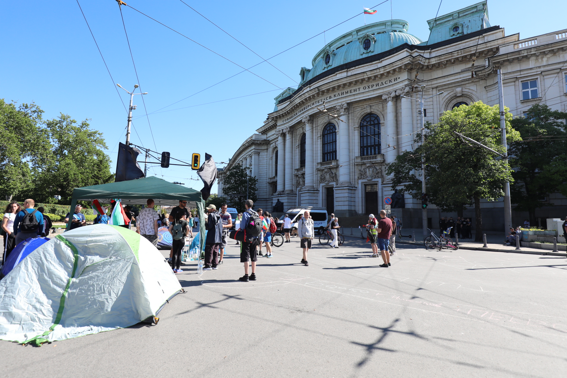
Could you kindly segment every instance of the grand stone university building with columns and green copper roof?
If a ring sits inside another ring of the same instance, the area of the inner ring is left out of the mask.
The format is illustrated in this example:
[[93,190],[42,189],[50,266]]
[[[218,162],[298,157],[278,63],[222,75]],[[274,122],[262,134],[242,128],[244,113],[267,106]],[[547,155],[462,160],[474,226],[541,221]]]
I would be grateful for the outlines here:
[[[421,117],[435,123],[460,104],[498,104],[497,69],[514,116],[537,103],[567,111],[567,30],[506,36],[504,28],[491,26],[486,1],[428,24],[425,42],[408,33],[407,21],[386,20],[325,45],[312,67],[299,71],[298,88],[276,97],[264,124],[219,172],[219,195],[225,172],[242,163],[258,179],[256,207],[272,210],[280,199],[285,210],[326,207],[339,218],[376,214],[393,193],[384,165],[416,147]],[[424,98],[443,91],[426,101],[423,114],[408,98],[421,96],[422,85]],[[405,227],[421,227],[421,201],[405,194],[403,205],[392,213]],[[502,228],[503,202],[482,206],[486,229]],[[428,213],[436,225],[439,211],[431,205]]]

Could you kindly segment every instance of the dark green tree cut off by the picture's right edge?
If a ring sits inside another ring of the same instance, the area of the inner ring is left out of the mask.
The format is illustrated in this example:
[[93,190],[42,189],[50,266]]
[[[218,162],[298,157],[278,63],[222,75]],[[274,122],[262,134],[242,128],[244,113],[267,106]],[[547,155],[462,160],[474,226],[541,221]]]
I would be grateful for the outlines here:
[[516,210],[527,211],[535,224],[535,210],[549,206],[543,198],[561,192],[567,196],[567,113],[552,111],[547,105],[536,104],[525,117],[511,121],[523,140],[510,143],[510,164],[515,184],[511,186],[512,203]]

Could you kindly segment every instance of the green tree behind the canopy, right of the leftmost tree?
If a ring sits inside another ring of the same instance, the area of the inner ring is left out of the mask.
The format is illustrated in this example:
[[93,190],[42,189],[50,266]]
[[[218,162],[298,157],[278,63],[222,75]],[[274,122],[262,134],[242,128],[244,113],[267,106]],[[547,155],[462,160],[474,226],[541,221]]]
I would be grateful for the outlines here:
[[87,120],[78,124],[61,113],[46,121],[42,131],[50,144],[32,164],[37,177],[32,190],[36,201],[52,203],[53,196],[61,196],[61,203],[69,203],[74,188],[114,180],[110,158],[103,152],[108,147],[102,133],[90,129]]

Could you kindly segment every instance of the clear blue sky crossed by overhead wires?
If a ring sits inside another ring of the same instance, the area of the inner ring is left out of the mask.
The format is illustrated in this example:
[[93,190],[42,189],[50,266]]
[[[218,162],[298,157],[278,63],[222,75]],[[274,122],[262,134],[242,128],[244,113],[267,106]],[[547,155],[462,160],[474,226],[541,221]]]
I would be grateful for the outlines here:
[[[140,96],[134,96],[138,108],[133,112],[132,142],[155,151],[170,151],[177,159],[189,160],[192,152],[204,158],[208,152],[215,162],[228,161],[240,143],[255,133],[266,114],[273,111],[273,98],[280,94],[280,88],[297,86],[299,70],[303,66],[311,67],[314,54],[325,41],[363,25],[363,16],[329,28],[361,12],[362,7],[378,10],[377,14],[366,16],[367,23],[390,19],[392,9],[393,18],[407,20],[409,33],[425,41],[429,35],[426,20],[434,18],[439,7],[438,1],[414,0],[392,0],[378,7],[374,6],[379,0],[372,3],[185,0],[263,58],[328,30],[270,60],[281,73],[179,0],[126,2],[228,59],[123,6],[139,82],[142,90],[149,92],[144,96],[146,108],[152,113],[148,122]],[[131,90],[137,79],[116,1],[79,0],[79,3],[114,83]],[[443,1],[439,15],[473,3],[473,0]],[[519,0],[513,2],[514,6],[510,4],[503,0],[488,2],[490,23],[504,27],[506,35],[520,33],[521,38],[527,38],[566,26],[566,2]],[[0,98],[19,103],[35,101],[44,109],[46,118],[56,117],[60,112],[78,121],[90,118],[91,127],[104,133],[114,171],[117,143],[125,141],[126,111],[77,2],[6,2],[0,18],[3,36]],[[263,63],[251,69],[256,76],[246,71],[238,74],[242,69],[229,60],[247,68]],[[235,74],[238,75],[196,94]],[[119,91],[127,107],[128,94],[120,88]],[[185,99],[188,96],[191,97]],[[226,99],[232,100],[212,103]],[[194,189],[202,188],[200,180],[190,180],[198,177],[189,167],[157,167],[149,172],[168,181],[184,182]]]

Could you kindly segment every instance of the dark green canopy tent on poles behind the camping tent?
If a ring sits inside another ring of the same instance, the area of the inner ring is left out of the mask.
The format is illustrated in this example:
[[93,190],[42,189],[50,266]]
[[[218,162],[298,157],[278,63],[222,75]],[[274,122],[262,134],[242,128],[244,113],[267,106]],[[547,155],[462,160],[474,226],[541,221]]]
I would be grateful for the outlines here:
[[[111,199],[120,198],[125,205],[146,205],[146,200],[152,198],[155,205],[177,206],[179,201],[186,200],[187,206],[197,207],[199,219],[199,231],[205,235],[205,214],[201,192],[191,188],[158,179],[158,177],[142,177],[142,179],[110,182],[109,184],[84,186],[73,189],[70,214],[73,213],[77,201],[94,201],[100,203],[111,203]],[[70,227],[67,224],[67,230]],[[201,237],[201,252],[205,248],[205,238]]]

